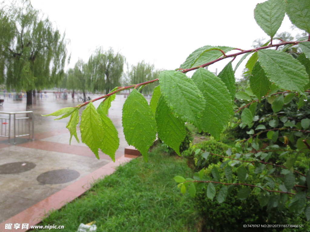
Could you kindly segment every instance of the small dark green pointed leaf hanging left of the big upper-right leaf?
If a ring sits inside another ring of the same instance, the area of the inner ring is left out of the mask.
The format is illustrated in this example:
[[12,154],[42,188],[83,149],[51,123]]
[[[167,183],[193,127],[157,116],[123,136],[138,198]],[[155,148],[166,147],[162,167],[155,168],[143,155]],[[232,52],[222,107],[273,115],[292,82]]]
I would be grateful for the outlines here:
[[259,62],[256,62],[253,67],[252,75],[250,76],[250,87],[259,101],[270,90],[271,82],[265,75],[265,72]]

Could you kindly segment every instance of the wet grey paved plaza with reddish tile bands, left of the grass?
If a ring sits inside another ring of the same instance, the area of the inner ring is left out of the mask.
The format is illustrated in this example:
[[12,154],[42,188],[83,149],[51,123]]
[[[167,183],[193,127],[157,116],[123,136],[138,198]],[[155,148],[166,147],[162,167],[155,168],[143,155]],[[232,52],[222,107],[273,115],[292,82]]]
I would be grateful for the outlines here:
[[[130,160],[124,157],[128,144],[122,132],[122,105],[126,100],[123,96],[117,96],[109,110],[120,138],[115,163],[103,153],[98,160],[85,144],[74,138],[69,145],[70,134],[66,129],[69,117],[53,120],[55,117],[42,117],[41,114],[79,103],[71,99],[71,95],[67,100],[56,99],[52,94],[47,96],[37,99],[33,105],[35,140],[29,140],[28,136],[18,138],[16,144],[13,139],[11,144],[7,138],[0,140],[0,231],[10,231],[6,229],[9,223],[14,231],[26,231],[21,229],[23,223],[29,224],[30,229],[51,209],[61,208],[84,193],[96,179],[111,174],[116,166]],[[89,96],[92,99],[99,97]],[[98,106],[100,102],[94,104]],[[0,106],[0,114],[1,111],[25,109],[26,99],[13,101],[9,98]],[[20,228],[15,230],[14,224],[20,224]]]

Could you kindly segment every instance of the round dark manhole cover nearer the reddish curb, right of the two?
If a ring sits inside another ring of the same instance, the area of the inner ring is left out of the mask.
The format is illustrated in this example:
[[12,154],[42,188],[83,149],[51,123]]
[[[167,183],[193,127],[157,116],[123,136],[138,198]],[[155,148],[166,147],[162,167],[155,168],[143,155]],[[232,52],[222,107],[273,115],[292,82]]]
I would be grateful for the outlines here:
[[44,172],[37,177],[41,184],[62,184],[75,180],[80,173],[70,169],[58,169]]

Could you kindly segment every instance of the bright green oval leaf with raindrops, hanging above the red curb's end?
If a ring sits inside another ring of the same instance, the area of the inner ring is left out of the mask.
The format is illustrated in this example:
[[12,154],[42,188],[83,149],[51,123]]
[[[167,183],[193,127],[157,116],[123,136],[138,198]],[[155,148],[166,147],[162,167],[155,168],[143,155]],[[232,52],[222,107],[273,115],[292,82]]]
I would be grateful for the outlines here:
[[156,138],[156,121],[148,102],[136,89],[123,105],[122,124],[127,143],[137,148],[147,161],[148,149]]

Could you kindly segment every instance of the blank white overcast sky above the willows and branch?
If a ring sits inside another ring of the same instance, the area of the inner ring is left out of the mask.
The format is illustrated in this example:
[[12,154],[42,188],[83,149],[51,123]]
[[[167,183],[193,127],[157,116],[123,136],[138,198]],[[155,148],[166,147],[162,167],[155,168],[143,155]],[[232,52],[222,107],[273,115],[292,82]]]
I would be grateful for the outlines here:
[[[253,16],[259,2],[264,1],[31,0],[70,39],[68,67],[78,58],[87,62],[102,46],[120,50],[130,65],[145,60],[168,70],[178,68],[204,45],[250,49],[255,39],[267,40]],[[287,16],[278,32],[283,31],[290,31]],[[209,70],[220,71],[228,62],[215,63]],[[237,60],[234,63],[233,67]]]

